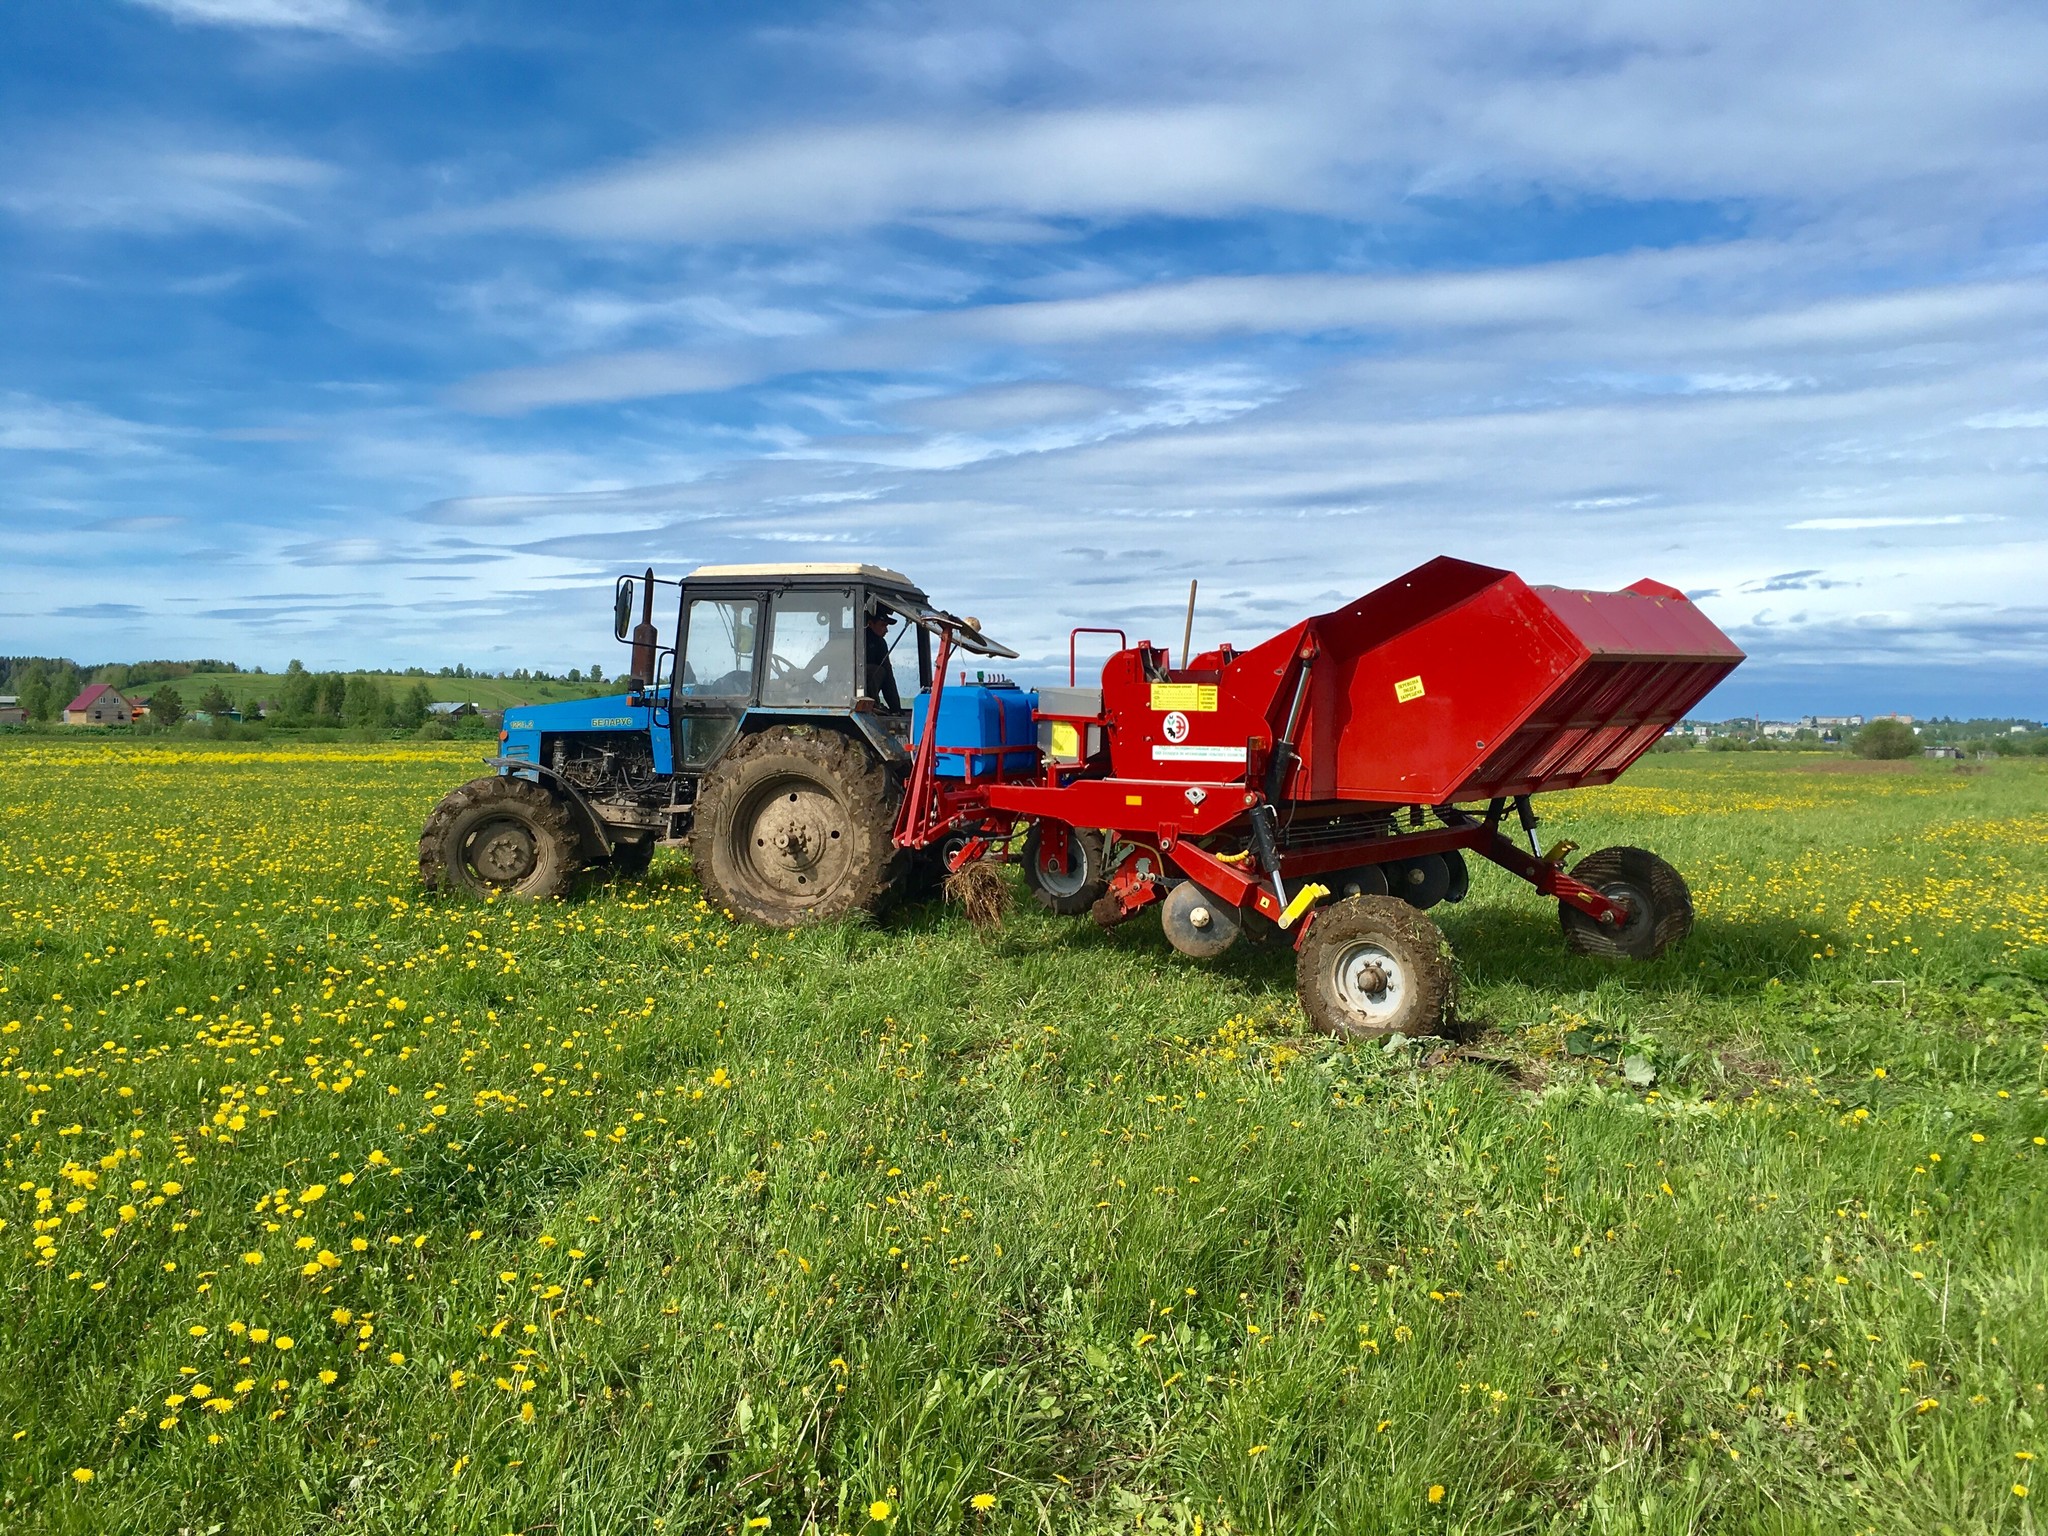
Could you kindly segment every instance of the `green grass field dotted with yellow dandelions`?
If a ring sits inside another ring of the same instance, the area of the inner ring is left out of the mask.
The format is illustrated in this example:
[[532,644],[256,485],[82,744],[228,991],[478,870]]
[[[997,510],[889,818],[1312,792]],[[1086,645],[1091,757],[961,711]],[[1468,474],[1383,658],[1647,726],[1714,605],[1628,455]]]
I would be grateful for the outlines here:
[[1389,1053],[1153,920],[424,899],[477,752],[0,745],[0,1528],[2036,1528],[2044,764],[1559,797],[1692,942],[1481,866]]

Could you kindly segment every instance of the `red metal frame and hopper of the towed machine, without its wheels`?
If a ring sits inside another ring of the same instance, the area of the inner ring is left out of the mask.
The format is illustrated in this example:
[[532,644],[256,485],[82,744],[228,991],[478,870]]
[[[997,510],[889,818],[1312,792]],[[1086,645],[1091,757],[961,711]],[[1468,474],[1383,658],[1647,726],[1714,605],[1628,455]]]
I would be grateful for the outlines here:
[[[1509,571],[1434,559],[1356,602],[1305,618],[1249,651],[1219,647],[1171,670],[1161,649],[1120,629],[1067,637],[1069,682],[1079,637],[1116,635],[1102,668],[1102,713],[1044,715],[1104,748],[1077,766],[1030,774],[940,778],[938,705],[952,635],[918,741],[897,842],[924,848],[969,829],[1040,829],[1040,856],[1065,866],[1067,831],[1102,827],[1120,856],[1112,893],[1122,915],[1159,897],[1174,874],[1278,922],[1284,891],[1317,874],[1464,850],[1597,922],[1628,911],[1501,834],[1509,803],[1552,788],[1612,782],[1720,682],[1743,653],[1673,588],[1624,592],[1530,588]],[[1487,803],[1485,819],[1454,809]],[[1270,809],[1268,809],[1270,807]],[[1425,813],[1427,807],[1427,813]],[[1391,813],[1409,811],[1397,831]],[[1270,862],[1233,852],[1278,825]],[[1358,834],[1286,846],[1288,823],[1358,817]],[[1434,817],[1436,825],[1427,825]],[[1001,834],[1008,838],[1010,834]],[[1278,891],[1274,887],[1280,887]],[[1300,924],[1307,932],[1307,922]]]

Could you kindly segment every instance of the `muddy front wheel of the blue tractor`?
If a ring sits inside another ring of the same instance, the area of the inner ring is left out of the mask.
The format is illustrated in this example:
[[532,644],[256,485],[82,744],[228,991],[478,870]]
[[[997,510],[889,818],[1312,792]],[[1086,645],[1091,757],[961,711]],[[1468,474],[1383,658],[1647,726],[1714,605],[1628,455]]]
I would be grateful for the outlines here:
[[569,809],[530,778],[471,778],[449,791],[420,829],[428,891],[545,901],[582,868]]

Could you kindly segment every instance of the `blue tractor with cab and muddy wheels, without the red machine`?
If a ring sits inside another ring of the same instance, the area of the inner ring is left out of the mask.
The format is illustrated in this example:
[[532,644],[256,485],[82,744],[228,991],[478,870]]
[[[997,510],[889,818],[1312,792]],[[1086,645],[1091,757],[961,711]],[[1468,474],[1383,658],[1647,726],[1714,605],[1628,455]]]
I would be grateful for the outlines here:
[[[674,645],[657,588],[678,590]],[[543,899],[686,844],[715,905],[788,928],[879,911],[942,872],[950,850],[899,848],[895,819],[934,635],[1016,655],[973,618],[879,565],[705,565],[618,578],[612,629],[633,645],[627,692],[508,709],[494,772],[426,819],[428,889]]]

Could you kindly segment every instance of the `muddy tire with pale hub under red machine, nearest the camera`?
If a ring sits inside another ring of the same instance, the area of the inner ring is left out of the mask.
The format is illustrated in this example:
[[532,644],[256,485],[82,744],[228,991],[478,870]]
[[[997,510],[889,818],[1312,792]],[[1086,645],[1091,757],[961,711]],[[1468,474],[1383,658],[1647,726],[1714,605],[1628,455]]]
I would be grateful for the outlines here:
[[1442,1034],[1458,1010],[1450,944],[1401,897],[1350,897],[1317,911],[1294,985],[1309,1024],[1343,1040]]

